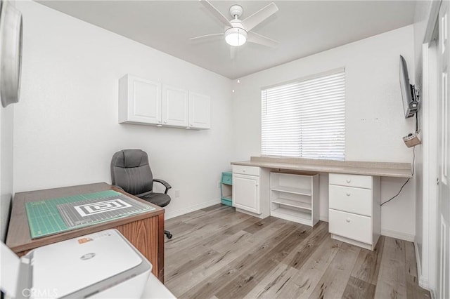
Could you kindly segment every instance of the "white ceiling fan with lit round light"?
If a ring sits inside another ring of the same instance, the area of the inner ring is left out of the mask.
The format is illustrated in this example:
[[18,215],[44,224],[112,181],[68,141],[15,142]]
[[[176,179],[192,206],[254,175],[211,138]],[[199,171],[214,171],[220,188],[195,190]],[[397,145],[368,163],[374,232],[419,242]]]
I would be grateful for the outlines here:
[[274,47],[278,44],[278,41],[275,41],[274,39],[269,39],[269,37],[262,36],[261,34],[251,31],[255,26],[259,25],[259,23],[263,22],[266,18],[269,18],[278,11],[278,7],[273,2],[244,20],[239,20],[239,17],[243,13],[243,8],[240,5],[233,5],[230,7],[229,12],[233,19],[228,20],[220,11],[217,10],[217,8],[212,6],[210,1],[200,0],[200,2],[214,15],[214,17],[217,18],[217,20],[225,25],[225,30],[223,33],[196,36],[191,38],[191,40],[224,35],[226,43],[235,47],[242,46],[246,41],[269,47]]

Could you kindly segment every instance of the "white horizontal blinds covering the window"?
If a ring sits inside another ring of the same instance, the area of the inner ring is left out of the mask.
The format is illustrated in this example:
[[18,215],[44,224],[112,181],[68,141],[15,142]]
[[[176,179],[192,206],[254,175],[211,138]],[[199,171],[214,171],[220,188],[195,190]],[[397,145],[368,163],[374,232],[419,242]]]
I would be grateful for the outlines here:
[[345,72],[262,90],[261,154],[345,159]]

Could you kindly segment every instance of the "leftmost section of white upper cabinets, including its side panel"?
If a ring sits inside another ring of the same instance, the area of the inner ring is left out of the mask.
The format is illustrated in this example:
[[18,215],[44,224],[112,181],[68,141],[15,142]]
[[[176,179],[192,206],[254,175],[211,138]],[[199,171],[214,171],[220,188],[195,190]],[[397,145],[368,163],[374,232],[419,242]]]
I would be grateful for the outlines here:
[[161,85],[129,74],[119,81],[119,122],[161,124]]

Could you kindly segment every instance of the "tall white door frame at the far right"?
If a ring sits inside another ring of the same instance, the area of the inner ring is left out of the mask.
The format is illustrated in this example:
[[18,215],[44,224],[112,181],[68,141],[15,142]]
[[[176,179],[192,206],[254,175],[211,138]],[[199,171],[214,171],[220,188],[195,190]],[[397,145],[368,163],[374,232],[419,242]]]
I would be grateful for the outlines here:
[[430,18],[422,45],[422,127],[423,127],[423,247],[422,260],[416,244],[419,286],[430,290],[432,298],[437,291],[437,51],[435,28],[442,1],[432,1]]

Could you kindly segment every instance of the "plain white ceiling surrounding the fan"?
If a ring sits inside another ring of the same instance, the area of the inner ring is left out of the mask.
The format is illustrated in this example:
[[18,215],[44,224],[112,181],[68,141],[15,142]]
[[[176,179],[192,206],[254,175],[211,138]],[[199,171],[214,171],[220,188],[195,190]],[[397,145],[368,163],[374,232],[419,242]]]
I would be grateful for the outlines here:
[[[243,6],[241,20],[270,2],[211,1],[227,18],[231,5]],[[404,0],[274,2],[279,11],[252,31],[280,44],[247,43],[231,59],[223,36],[189,40],[224,30],[199,1],[39,1],[231,79],[411,25],[416,6]]]

